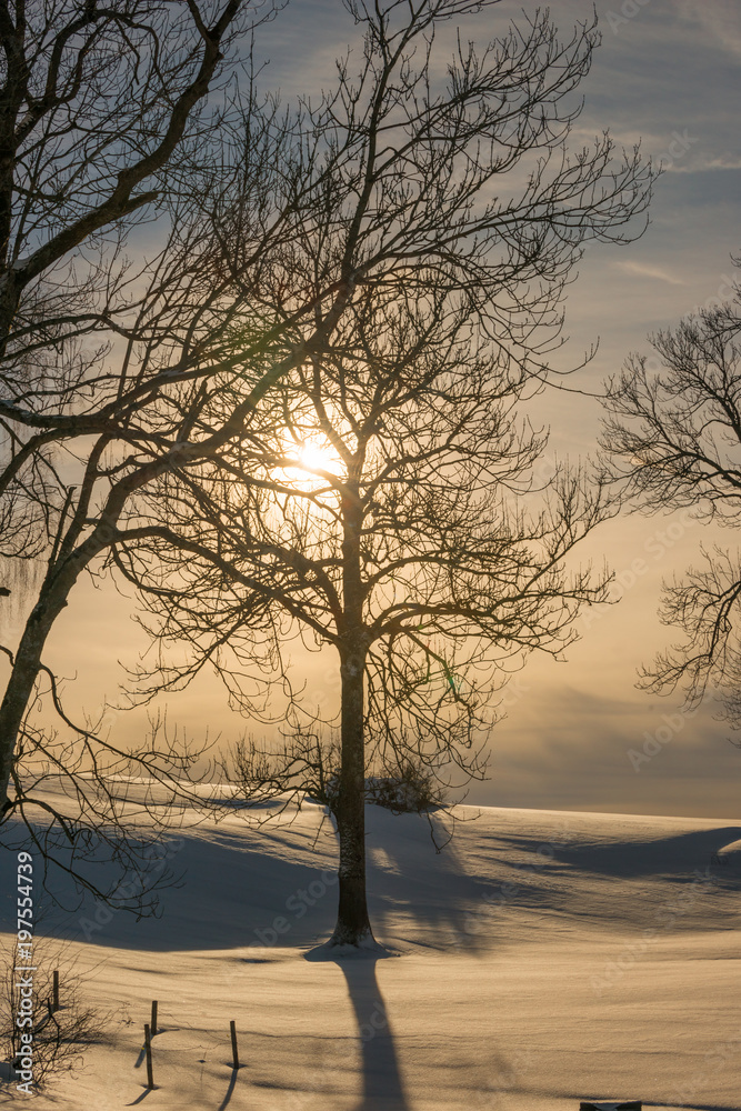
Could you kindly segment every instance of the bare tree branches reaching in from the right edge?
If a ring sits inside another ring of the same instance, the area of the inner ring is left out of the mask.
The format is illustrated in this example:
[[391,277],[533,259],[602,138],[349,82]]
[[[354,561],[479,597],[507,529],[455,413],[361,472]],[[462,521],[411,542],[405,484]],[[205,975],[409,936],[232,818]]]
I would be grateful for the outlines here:
[[[688,510],[701,522],[741,524],[741,317],[734,302],[703,309],[652,338],[657,357],[632,356],[607,391],[607,472],[645,513]],[[660,360],[660,368],[655,364]],[[734,549],[700,547],[701,562],[664,584],[660,617],[684,639],[641,671],[654,693],[681,688],[688,707],[708,689],[741,724]]]

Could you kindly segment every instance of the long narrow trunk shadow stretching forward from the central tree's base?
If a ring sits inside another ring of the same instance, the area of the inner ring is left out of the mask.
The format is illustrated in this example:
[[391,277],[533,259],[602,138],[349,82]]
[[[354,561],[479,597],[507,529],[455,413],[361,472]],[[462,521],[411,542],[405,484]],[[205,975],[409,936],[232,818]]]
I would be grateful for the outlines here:
[[334,962],[347,980],[360,1035],[363,1090],[354,1111],[409,1111],[377,961],[369,955]]

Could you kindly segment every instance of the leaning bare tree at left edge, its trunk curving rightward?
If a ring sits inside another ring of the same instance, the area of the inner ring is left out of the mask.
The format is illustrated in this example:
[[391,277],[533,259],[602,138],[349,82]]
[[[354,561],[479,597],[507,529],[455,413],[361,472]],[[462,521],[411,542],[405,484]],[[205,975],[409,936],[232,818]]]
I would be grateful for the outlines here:
[[[170,743],[160,730],[151,743],[122,752],[100,728],[106,707],[98,721],[71,721],[57,677],[42,660],[47,639],[79,577],[96,573],[112,546],[147,537],[147,526],[140,531],[138,491],[162,473],[210,458],[230,438],[249,434],[260,398],[306,349],[296,321],[311,318],[317,308],[303,299],[286,319],[281,307],[269,316],[264,300],[270,274],[290,267],[288,248],[297,212],[311,199],[314,156],[303,164],[306,148],[293,149],[296,120],[279,118],[269,99],[258,103],[251,88],[234,94],[230,108],[218,151],[206,151],[206,164],[200,148],[198,157],[181,159],[188,192],[170,193],[161,249],[140,263],[133,279],[127,277],[136,296],[126,304],[126,327],[111,326],[120,342],[99,339],[84,349],[76,346],[79,337],[66,334],[58,347],[50,344],[53,373],[41,360],[24,386],[26,408],[16,403],[17,420],[3,426],[9,449],[0,474],[3,553],[18,561],[46,560],[17,648],[0,649],[11,664],[0,707],[3,814],[23,819],[44,859],[71,870],[97,898],[108,895],[84,870],[64,862],[70,844],[78,847],[78,858],[102,844],[123,871],[151,879],[141,859],[157,835],[150,819],[160,812],[166,782],[177,812],[187,797],[198,801],[188,795],[189,777],[202,747]],[[348,293],[330,282],[323,296],[339,306]],[[322,330],[314,322],[307,339]],[[103,332],[99,323],[97,338]],[[218,379],[221,388],[230,374],[233,406],[213,426],[210,383]],[[29,427],[44,431],[28,438]],[[61,720],[61,737],[32,722],[30,711],[44,695]],[[131,775],[156,784],[153,808],[147,793],[131,798],[124,785]],[[47,787],[60,778],[69,798],[52,804]],[[130,839],[136,815],[147,817],[150,829]],[[41,831],[39,817],[46,822]],[[114,900],[118,891],[113,881]],[[151,908],[151,893],[140,884],[133,908]]]

